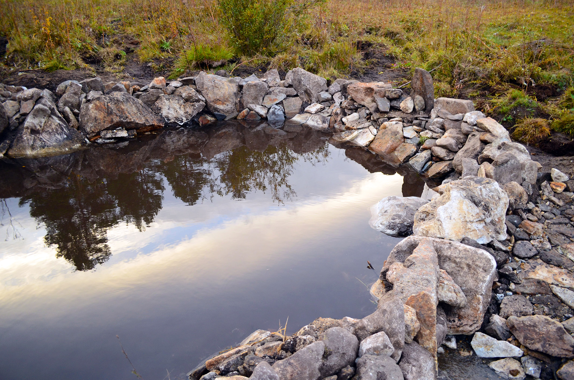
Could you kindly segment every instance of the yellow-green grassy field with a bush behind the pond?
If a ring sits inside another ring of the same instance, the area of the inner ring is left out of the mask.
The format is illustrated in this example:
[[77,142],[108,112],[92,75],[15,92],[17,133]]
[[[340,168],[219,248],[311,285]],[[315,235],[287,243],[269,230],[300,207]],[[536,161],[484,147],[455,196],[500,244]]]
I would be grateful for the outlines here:
[[367,45],[392,68],[434,69],[436,96],[473,99],[505,125],[542,118],[574,135],[572,0],[301,1],[0,0],[2,69],[97,63],[121,73],[135,55],[172,77],[243,64],[333,79],[369,67]]

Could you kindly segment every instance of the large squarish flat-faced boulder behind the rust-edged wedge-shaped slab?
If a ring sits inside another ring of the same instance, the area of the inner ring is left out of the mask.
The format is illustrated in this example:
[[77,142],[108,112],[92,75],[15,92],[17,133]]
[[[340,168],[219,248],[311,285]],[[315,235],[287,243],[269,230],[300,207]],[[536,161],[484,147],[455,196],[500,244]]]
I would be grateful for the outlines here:
[[389,254],[381,271],[381,280],[386,280],[386,273],[393,263],[404,262],[420,242],[427,239],[437,253],[440,269],[460,285],[467,298],[464,307],[445,309],[448,334],[473,334],[482,325],[490,303],[492,282],[497,274],[497,263],[487,251],[444,239],[409,236]]

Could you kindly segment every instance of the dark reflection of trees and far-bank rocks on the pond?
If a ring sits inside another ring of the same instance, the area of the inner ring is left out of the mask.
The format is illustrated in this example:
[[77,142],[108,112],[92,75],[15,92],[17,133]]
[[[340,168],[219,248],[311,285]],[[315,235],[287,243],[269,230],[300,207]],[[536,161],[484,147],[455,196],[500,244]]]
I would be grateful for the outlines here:
[[296,196],[288,181],[293,164],[328,157],[323,136],[266,123],[165,130],[125,146],[2,160],[0,191],[29,204],[57,257],[76,270],[91,270],[111,256],[109,228],[131,223],[141,231],[153,222],[162,207],[164,179],[173,195],[190,205],[214,195],[242,199],[253,191],[283,203]]

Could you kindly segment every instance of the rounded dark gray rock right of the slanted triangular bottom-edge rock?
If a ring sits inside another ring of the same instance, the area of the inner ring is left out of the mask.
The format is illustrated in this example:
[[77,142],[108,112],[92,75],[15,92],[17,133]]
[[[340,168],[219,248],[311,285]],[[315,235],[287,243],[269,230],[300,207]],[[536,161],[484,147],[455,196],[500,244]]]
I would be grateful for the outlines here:
[[323,377],[338,373],[355,362],[359,341],[355,335],[341,327],[331,327],[321,335],[325,343],[323,364],[319,372]]

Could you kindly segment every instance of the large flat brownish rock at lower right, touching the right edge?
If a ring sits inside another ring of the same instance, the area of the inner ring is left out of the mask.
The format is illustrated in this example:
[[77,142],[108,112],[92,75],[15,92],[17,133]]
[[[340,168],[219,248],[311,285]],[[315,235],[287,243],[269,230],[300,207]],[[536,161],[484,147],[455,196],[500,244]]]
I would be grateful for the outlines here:
[[518,342],[530,350],[559,358],[574,357],[574,338],[556,320],[544,315],[511,316],[507,323]]

